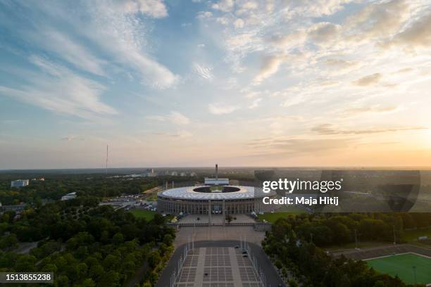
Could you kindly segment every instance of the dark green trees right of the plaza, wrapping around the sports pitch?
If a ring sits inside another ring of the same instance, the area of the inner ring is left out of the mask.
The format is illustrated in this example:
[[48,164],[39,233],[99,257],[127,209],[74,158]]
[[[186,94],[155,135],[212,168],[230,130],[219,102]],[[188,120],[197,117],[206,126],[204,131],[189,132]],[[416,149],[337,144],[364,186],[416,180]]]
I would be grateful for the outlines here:
[[335,259],[321,247],[354,242],[355,230],[363,240],[393,241],[394,227],[399,236],[404,228],[430,224],[429,213],[290,215],[277,219],[262,245],[291,279],[290,286],[404,287],[408,285],[399,278],[379,274],[366,262]]

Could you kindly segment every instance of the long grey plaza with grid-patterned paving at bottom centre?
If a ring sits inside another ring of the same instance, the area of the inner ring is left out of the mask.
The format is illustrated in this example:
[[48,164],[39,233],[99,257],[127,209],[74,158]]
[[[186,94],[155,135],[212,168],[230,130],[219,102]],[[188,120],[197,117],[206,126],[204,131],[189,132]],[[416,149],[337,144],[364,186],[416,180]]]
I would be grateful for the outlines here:
[[240,248],[204,247],[190,250],[175,287],[258,287],[249,257]]

